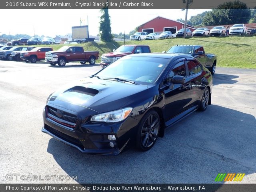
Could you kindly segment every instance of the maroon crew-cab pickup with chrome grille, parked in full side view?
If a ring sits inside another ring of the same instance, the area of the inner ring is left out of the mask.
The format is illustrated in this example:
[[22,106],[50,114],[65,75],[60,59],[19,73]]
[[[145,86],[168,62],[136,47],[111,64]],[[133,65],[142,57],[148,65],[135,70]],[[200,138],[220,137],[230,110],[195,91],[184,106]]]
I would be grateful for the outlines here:
[[95,64],[99,58],[98,51],[84,51],[83,47],[63,46],[57,51],[50,51],[45,54],[45,60],[51,65],[65,66],[67,62],[80,61],[82,65],[89,62]]

